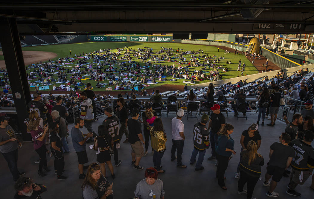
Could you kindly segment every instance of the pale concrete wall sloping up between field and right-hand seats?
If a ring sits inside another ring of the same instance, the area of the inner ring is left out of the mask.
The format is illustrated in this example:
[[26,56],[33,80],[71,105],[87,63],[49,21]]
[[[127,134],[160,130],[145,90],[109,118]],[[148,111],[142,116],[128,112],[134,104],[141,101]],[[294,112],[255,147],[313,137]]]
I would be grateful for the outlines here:
[[[296,66],[296,67],[292,67],[292,68],[287,68],[284,69],[283,71],[286,73],[287,76],[291,76],[292,74],[294,74],[296,71],[298,71],[299,69],[305,69],[308,68],[309,71],[314,71],[314,64],[309,64],[309,65],[302,65],[302,66]],[[280,70],[276,70],[276,71],[270,71],[270,72],[264,72],[264,73],[257,73],[257,74],[253,74],[253,75],[247,75],[247,76],[242,76],[242,77],[234,77],[234,78],[230,78],[230,79],[225,79],[225,80],[219,80],[219,81],[212,81],[212,83],[214,85],[222,85],[222,84],[226,84],[228,82],[231,81],[231,83],[236,83],[239,82],[240,80],[246,80],[247,82],[250,81],[254,81],[258,78],[264,77],[264,76],[268,76],[268,78],[272,78],[273,76],[275,76],[277,74],[277,72],[279,72]],[[210,82],[207,83],[201,83],[201,84],[195,84],[192,86],[188,86],[188,89],[191,88],[195,88],[195,87],[208,87]]]

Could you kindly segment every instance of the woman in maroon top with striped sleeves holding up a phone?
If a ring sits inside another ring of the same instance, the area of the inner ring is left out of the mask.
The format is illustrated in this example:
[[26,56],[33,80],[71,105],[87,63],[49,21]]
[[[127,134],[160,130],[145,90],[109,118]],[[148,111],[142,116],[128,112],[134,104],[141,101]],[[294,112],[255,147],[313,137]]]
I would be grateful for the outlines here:
[[38,153],[40,157],[39,170],[38,175],[46,176],[43,172],[43,169],[46,171],[50,171],[47,168],[47,159],[46,159],[46,133],[48,132],[48,125],[45,125],[43,128],[39,126],[40,120],[36,117],[31,118],[28,125],[27,131],[30,132],[32,138],[34,140],[34,149]]

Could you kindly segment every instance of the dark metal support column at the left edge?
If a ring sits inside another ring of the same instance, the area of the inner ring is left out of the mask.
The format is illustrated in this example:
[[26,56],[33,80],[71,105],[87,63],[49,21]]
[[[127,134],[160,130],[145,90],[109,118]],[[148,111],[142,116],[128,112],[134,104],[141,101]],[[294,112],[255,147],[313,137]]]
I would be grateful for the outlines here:
[[23,140],[29,141],[31,136],[26,132],[24,119],[29,117],[27,103],[31,97],[16,20],[4,18],[0,21],[0,28],[2,30],[0,42],[18,115],[19,129]]

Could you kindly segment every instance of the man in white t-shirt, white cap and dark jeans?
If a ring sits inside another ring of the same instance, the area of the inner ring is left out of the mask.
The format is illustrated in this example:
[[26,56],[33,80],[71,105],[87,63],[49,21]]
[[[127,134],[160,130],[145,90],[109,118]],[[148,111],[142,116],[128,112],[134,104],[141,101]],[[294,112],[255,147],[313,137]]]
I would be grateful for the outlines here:
[[[177,159],[177,167],[187,168],[186,165],[182,164],[182,152],[184,146],[184,124],[181,121],[184,115],[184,111],[180,108],[177,112],[177,117],[172,118],[171,127],[172,127],[172,148],[171,148],[171,161]],[[177,157],[175,155],[177,150]]]

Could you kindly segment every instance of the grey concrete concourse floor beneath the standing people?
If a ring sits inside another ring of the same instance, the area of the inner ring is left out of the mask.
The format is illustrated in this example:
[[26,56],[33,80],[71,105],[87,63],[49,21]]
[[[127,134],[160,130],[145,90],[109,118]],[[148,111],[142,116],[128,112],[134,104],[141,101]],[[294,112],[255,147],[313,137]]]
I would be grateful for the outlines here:
[[[224,113],[225,114],[225,113]],[[190,118],[187,121],[187,118],[182,119],[185,124],[184,134],[186,136],[185,146],[183,150],[182,162],[187,165],[186,169],[181,169],[176,167],[176,161],[170,161],[171,155],[171,119],[175,117],[174,113],[169,113],[169,116],[165,113],[162,115],[162,121],[166,134],[168,135],[168,141],[166,143],[167,150],[164,154],[161,164],[163,169],[166,170],[165,174],[160,174],[158,177],[164,183],[165,198],[206,198],[211,196],[211,198],[246,198],[246,194],[239,195],[237,193],[237,179],[234,178],[236,167],[239,163],[239,154],[240,154],[240,136],[243,130],[247,129],[248,126],[256,122],[257,114],[248,113],[248,120],[239,119],[237,120],[233,117],[233,114],[230,113],[229,117],[226,118],[227,123],[231,123],[235,126],[235,130],[232,134],[233,138],[236,140],[235,151],[236,155],[229,162],[228,169],[226,170],[226,186],[228,187],[227,191],[222,190],[217,183],[215,178],[216,167],[214,160],[207,160],[207,157],[211,154],[211,149],[207,150],[205,155],[205,160],[203,166],[205,167],[202,171],[195,171],[195,165],[191,166],[189,160],[193,150],[192,142],[192,128],[194,123],[197,122],[196,118]],[[100,117],[100,119],[94,123],[94,130],[97,129],[97,126],[102,123],[106,116]],[[200,117],[198,118],[200,120]],[[273,142],[278,142],[279,135],[284,131],[285,123],[281,121],[276,122],[275,127],[268,127],[266,123],[269,123],[269,120],[266,119],[265,126],[259,126],[259,132],[262,136],[262,144],[259,149],[265,159],[265,165],[262,167],[262,180],[258,181],[253,197],[262,199],[267,198],[266,193],[268,187],[262,185],[263,180],[265,179],[266,172],[266,163],[268,162],[268,153],[269,146]],[[69,125],[69,129],[73,127]],[[84,132],[86,128],[83,128]],[[71,136],[71,135],[70,135]],[[45,184],[47,186],[47,192],[42,194],[42,197],[45,199],[52,198],[82,198],[81,197],[81,185],[83,180],[78,179],[78,162],[77,155],[73,149],[71,137],[68,137],[68,143],[70,146],[70,153],[65,154],[65,172],[63,175],[67,176],[68,179],[65,181],[58,181],[57,176],[53,171],[53,157],[47,158],[48,167],[52,171],[48,172],[48,175],[45,177],[39,177],[37,175],[38,164],[34,163],[34,160],[38,159],[38,155],[33,149],[32,143],[24,142],[23,148],[19,150],[19,161],[18,168],[20,171],[25,171],[25,176],[30,176],[34,179],[34,182]],[[122,138],[122,141],[125,140],[125,137]],[[47,149],[50,146],[47,146]],[[110,171],[107,169],[107,176],[110,182],[114,182],[114,198],[127,199],[134,196],[134,191],[136,189],[136,184],[144,179],[144,170],[135,170],[131,165],[131,147],[130,144],[121,143],[121,149],[119,149],[119,156],[122,160],[121,165],[114,167],[116,179],[112,180]],[[87,153],[89,156],[89,163],[96,161],[95,152],[90,150],[87,147]],[[113,160],[113,158],[112,158]],[[14,181],[12,180],[12,175],[9,172],[6,161],[3,156],[0,156],[0,198],[12,198],[14,196]],[[145,168],[153,166],[151,149],[149,153],[144,156],[140,162]],[[289,179],[283,177],[282,180],[278,183],[276,192],[279,192],[280,198],[294,198],[293,196],[287,195],[285,191],[287,190],[287,185]],[[314,191],[309,188],[311,185],[311,178],[309,178],[306,183],[302,186],[297,186],[296,191],[302,193],[301,198],[313,198]]]

